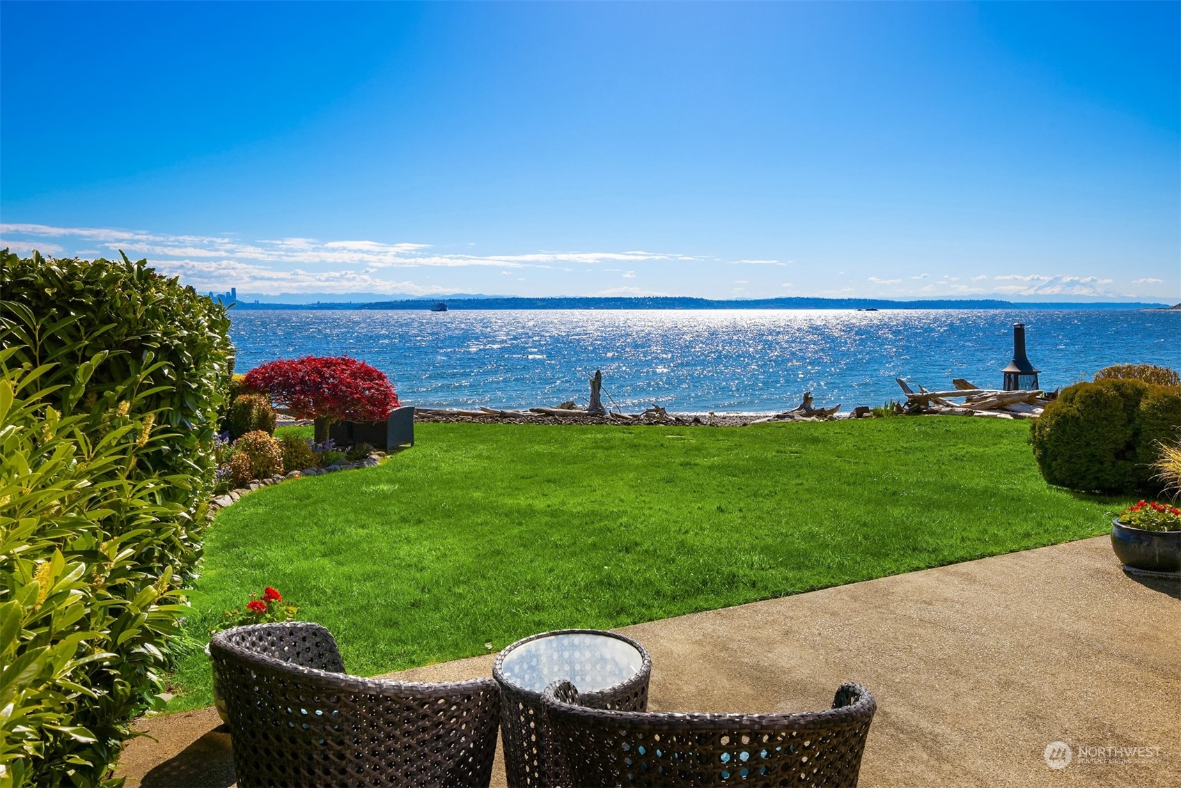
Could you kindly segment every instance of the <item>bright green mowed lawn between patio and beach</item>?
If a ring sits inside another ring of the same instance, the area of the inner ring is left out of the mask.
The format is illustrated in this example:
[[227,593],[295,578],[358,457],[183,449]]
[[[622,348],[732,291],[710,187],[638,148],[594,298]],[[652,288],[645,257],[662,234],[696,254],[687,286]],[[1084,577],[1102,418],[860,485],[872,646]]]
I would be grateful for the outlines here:
[[[1123,501],[1051,488],[1029,424],[418,424],[378,468],[217,515],[189,631],[279,588],[367,676],[1100,534]],[[211,702],[203,653],[174,677]]]

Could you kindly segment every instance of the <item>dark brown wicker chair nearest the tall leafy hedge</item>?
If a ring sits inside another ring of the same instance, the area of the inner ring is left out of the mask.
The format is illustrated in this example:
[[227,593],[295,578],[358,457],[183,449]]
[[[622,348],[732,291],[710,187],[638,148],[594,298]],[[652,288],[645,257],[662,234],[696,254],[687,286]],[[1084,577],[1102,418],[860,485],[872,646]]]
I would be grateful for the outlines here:
[[344,673],[318,624],[255,624],[214,636],[237,784],[487,786],[500,688],[482,678],[411,684]]

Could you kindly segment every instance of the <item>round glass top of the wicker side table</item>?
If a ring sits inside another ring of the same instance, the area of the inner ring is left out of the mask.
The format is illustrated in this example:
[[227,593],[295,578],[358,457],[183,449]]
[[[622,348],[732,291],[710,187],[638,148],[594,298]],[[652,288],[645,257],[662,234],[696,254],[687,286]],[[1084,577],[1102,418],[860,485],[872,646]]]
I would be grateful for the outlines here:
[[510,646],[501,660],[504,680],[542,692],[566,679],[579,692],[595,692],[632,678],[644,655],[627,640],[590,632],[548,634]]

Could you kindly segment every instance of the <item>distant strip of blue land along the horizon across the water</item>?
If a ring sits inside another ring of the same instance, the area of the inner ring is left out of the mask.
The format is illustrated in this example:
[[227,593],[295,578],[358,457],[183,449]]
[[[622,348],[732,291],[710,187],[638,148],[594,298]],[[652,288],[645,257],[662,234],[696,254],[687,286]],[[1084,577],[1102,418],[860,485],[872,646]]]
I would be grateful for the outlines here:
[[[520,298],[511,295],[455,294],[431,298],[407,297],[381,301],[315,300],[321,294],[306,294],[293,301],[239,300],[236,310],[429,310],[443,301],[449,310],[1160,310],[1167,304],[1140,301],[1066,302],[1066,301],[1001,301],[997,299],[939,299],[890,301],[875,298],[765,298],[742,300],[712,300],[689,297],[572,297]],[[326,295],[326,294],[325,294]],[[261,297],[267,298],[267,297]],[[298,298],[285,293],[281,297]],[[340,295],[331,298],[340,299]],[[389,298],[389,297],[385,297]],[[1181,306],[1181,305],[1179,305]]]

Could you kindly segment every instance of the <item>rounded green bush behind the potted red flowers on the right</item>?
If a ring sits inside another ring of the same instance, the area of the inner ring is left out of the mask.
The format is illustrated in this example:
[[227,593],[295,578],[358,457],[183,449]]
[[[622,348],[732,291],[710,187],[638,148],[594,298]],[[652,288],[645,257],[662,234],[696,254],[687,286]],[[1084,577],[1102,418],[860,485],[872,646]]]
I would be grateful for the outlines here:
[[1077,383],[1033,423],[1030,441],[1042,475],[1076,490],[1151,493],[1160,444],[1181,429],[1181,386],[1131,378]]

